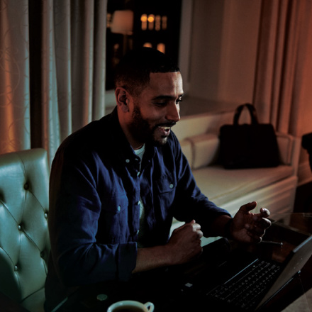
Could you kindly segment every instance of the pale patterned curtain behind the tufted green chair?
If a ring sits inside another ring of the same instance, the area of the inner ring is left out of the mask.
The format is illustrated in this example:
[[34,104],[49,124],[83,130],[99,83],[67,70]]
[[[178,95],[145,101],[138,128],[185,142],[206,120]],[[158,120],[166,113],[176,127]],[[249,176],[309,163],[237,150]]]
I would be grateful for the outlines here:
[[104,116],[107,0],[0,0],[0,154]]

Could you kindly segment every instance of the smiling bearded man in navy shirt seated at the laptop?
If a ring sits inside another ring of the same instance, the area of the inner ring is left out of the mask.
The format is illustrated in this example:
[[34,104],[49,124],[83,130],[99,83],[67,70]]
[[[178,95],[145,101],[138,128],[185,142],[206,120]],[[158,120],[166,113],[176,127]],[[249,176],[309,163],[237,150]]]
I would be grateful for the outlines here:
[[[235,218],[196,186],[171,128],[182,75],[161,52],[135,50],[116,69],[116,108],[60,146],[50,176],[46,310],[72,287],[125,281],[201,254],[201,237],[260,242],[269,211]],[[172,217],[185,221],[169,238]]]

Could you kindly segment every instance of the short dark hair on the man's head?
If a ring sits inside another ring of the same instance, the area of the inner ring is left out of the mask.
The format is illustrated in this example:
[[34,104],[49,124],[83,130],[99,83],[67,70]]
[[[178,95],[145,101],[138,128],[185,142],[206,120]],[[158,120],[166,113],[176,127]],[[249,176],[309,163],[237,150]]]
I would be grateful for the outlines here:
[[115,69],[114,84],[138,96],[150,82],[150,73],[179,72],[179,67],[164,53],[153,48],[130,50]]

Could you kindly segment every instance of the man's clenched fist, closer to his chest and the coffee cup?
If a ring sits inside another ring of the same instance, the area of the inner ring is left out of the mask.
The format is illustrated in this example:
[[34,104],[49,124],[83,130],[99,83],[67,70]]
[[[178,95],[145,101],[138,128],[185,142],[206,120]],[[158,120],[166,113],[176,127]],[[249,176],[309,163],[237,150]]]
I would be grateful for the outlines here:
[[175,229],[166,245],[171,264],[183,264],[198,257],[203,250],[202,237],[201,225],[194,220]]

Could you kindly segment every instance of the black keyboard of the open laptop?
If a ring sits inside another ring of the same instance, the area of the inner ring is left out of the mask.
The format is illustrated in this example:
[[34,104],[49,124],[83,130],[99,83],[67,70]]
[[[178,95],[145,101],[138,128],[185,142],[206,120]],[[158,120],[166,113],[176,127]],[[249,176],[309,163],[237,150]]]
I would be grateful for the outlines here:
[[257,260],[208,295],[247,310],[255,305],[257,298],[267,290],[268,284],[280,269],[279,264]]

